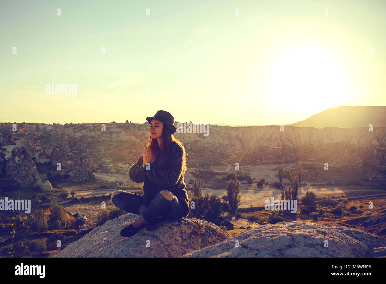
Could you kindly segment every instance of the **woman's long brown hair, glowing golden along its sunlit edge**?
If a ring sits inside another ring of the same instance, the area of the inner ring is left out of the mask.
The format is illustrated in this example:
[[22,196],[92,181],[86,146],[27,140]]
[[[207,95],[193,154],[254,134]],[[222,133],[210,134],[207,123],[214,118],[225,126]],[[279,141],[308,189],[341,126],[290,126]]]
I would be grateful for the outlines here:
[[170,152],[170,146],[172,142],[178,143],[182,150],[183,150],[183,156],[182,156],[182,171],[185,172],[187,170],[186,168],[186,157],[188,154],[186,153],[185,146],[181,141],[179,141],[177,138],[174,137],[173,134],[171,134],[170,128],[163,124],[162,126],[162,149],[159,148],[158,140],[151,138],[151,134],[149,135],[149,142],[147,143],[147,147],[151,149],[151,152],[154,153],[155,157],[155,163],[156,165],[160,166],[161,168],[165,166],[166,160],[168,158],[169,152]]

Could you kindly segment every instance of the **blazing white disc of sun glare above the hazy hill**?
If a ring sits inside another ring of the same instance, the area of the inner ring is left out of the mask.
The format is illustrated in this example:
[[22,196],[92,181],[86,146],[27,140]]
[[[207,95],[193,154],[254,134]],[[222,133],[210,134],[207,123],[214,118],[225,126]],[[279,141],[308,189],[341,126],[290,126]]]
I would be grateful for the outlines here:
[[268,98],[284,107],[329,108],[339,102],[346,86],[339,61],[312,48],[283,52],[268,76]]

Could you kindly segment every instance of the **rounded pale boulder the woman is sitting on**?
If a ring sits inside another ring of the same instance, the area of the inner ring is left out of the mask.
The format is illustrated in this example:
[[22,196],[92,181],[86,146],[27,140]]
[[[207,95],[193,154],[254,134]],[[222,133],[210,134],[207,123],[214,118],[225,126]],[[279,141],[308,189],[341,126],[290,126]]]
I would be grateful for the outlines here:
[[137,218],[125,214],[108,220],[54,257],[181,257],[231,237],[215,224],[195,218],[169,221],[153,231],[143,226],[134,236],[121,236],[120,230]]

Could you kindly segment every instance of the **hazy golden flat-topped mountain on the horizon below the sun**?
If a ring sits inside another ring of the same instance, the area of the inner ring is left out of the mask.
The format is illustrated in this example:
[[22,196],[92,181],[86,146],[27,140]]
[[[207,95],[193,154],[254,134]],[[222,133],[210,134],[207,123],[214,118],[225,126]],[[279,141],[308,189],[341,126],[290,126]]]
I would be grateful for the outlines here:
[[369,124],[372,124],[374,128],[386,127],[386,106],[340,106],[314,114],[303,121],[287,124],[287,126],[356,128],[369,127]]

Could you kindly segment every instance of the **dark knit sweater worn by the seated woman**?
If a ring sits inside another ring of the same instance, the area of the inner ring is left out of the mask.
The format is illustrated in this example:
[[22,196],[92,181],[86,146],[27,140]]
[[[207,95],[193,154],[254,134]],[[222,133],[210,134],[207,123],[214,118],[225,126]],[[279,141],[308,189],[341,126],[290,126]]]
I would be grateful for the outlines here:
[[189,215],[188,193],[185,190],[184,182],[185,171],[182,171],[183,149],[176,143],[171,143],[169,156],[165,163],[165,168],[150,163],[150,169],[143,167],[143,157],[139,157],[137,163],[131,166],[129,177],[133,182],[144,183],[144,196],[142,202],[149,205],[153,197],[161,190],[169,190],[181,204],[182,216]]

